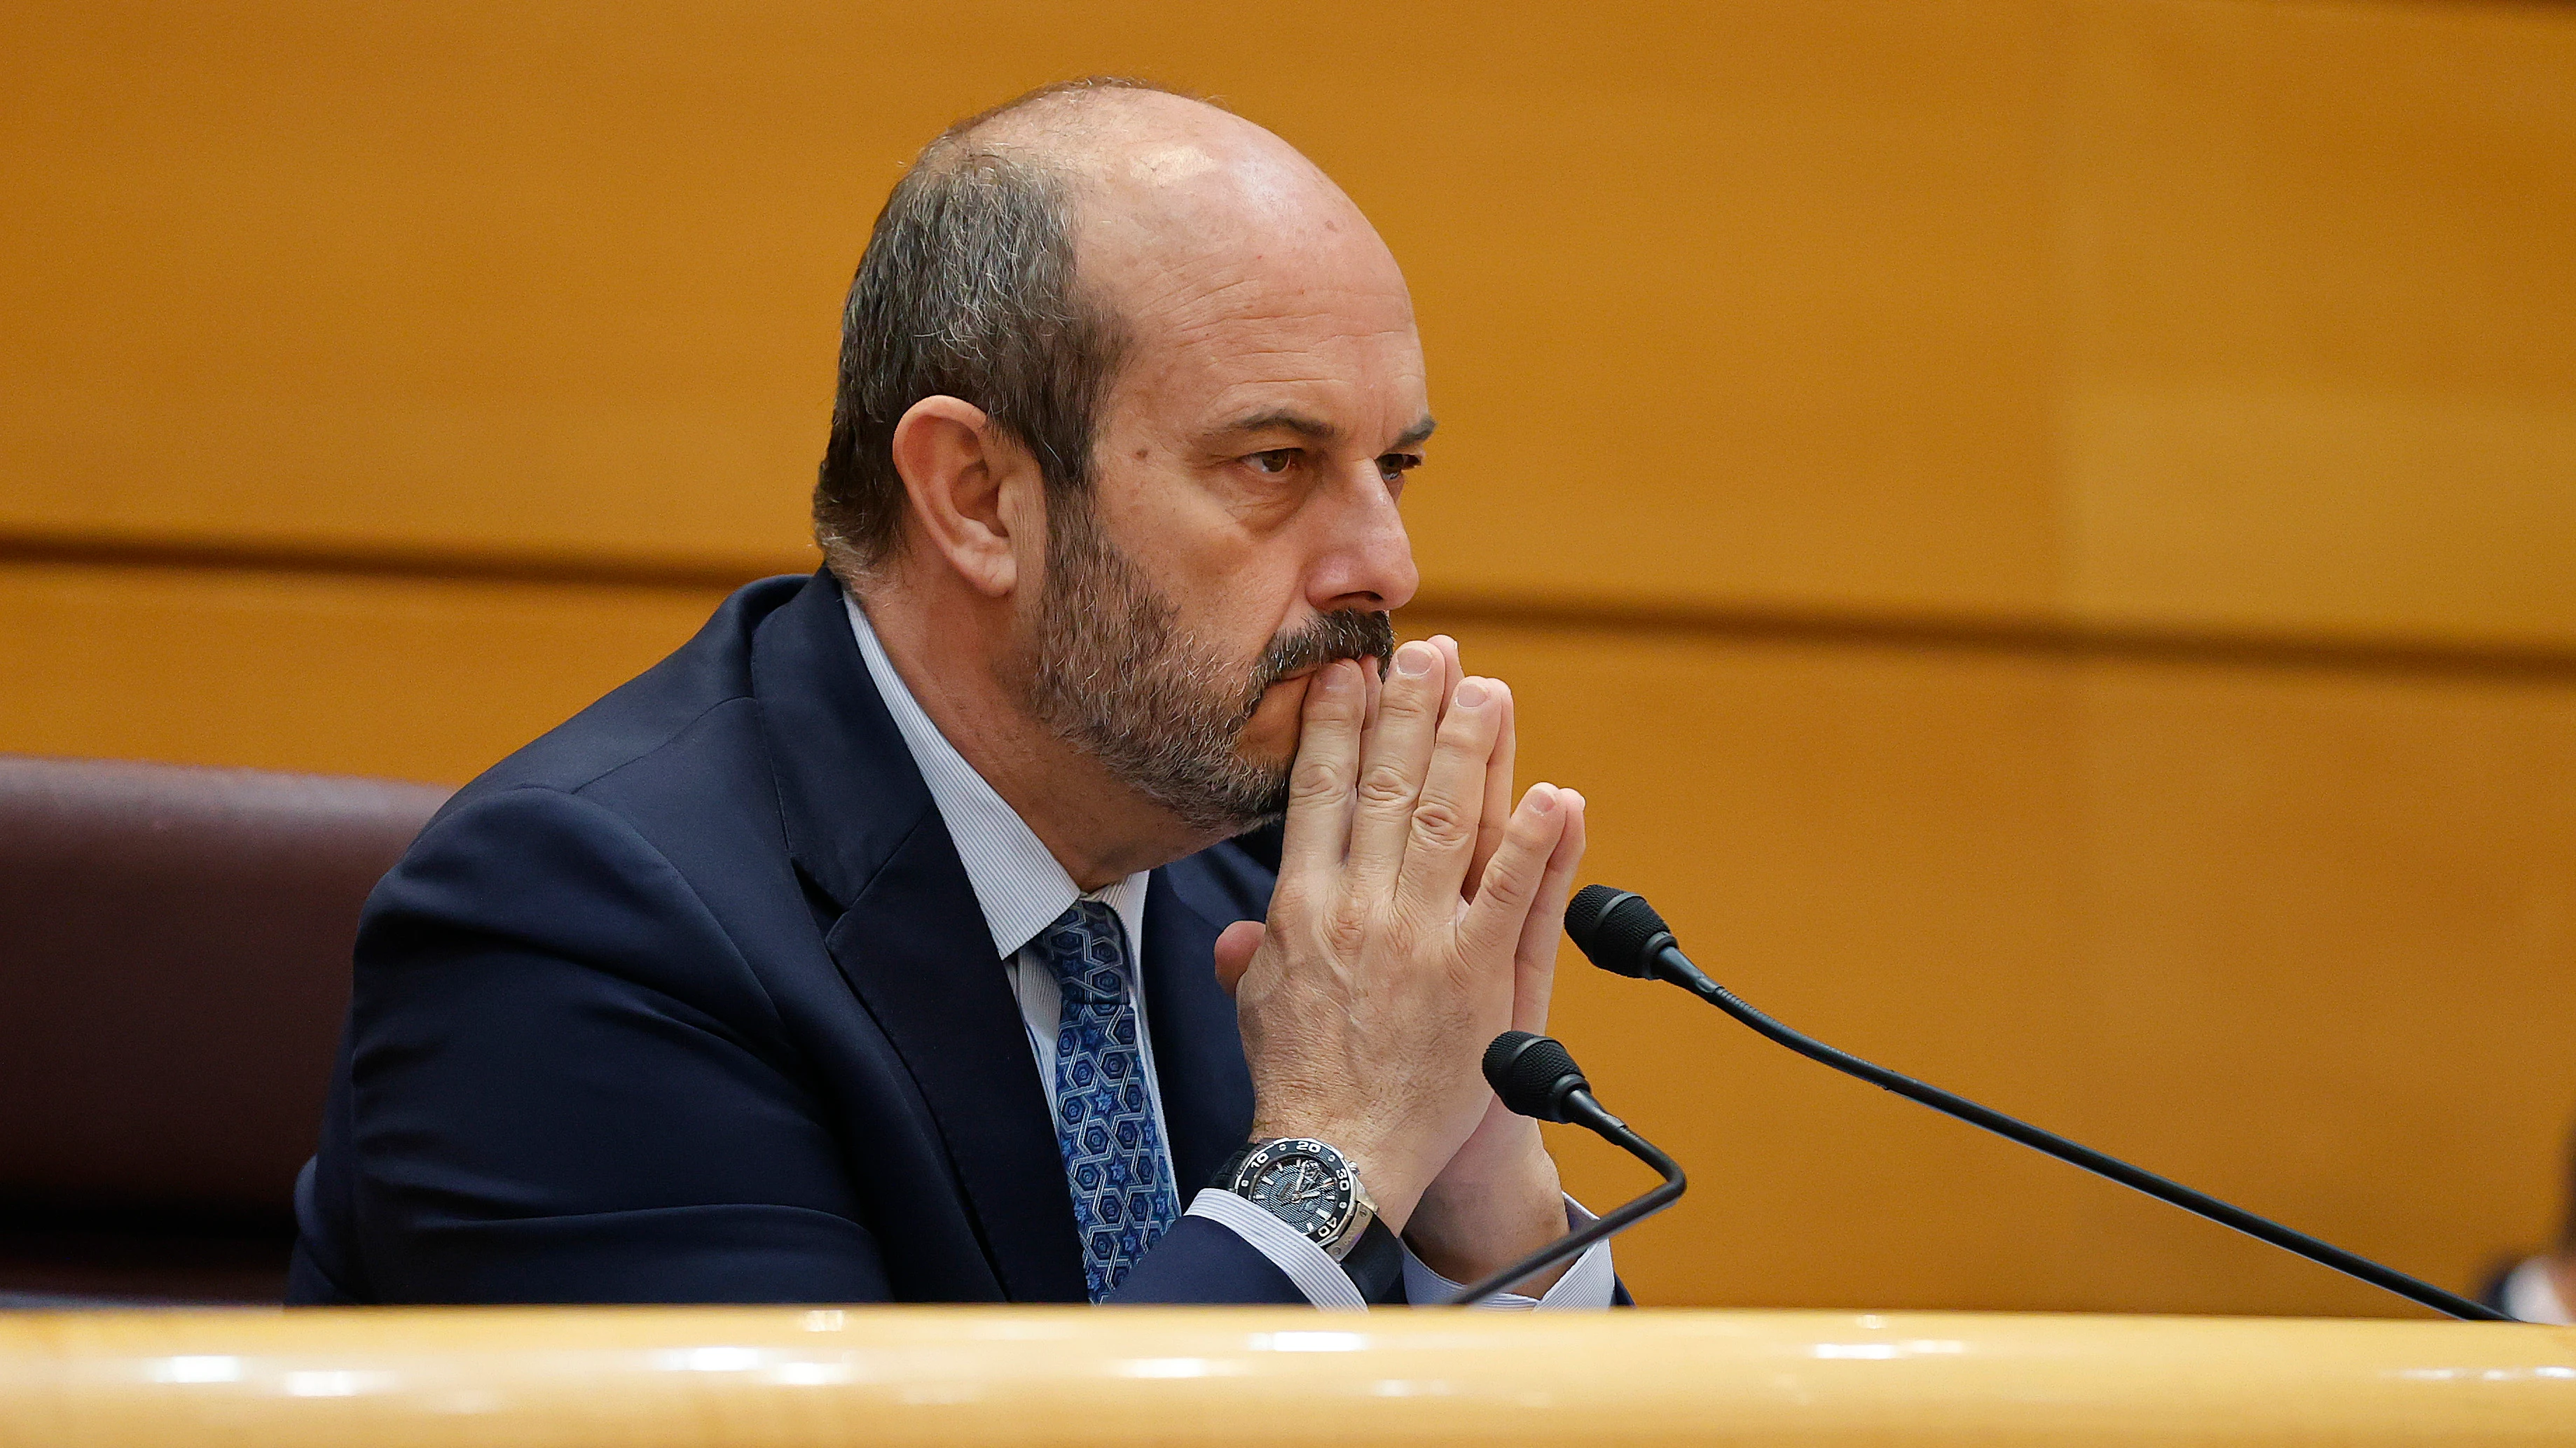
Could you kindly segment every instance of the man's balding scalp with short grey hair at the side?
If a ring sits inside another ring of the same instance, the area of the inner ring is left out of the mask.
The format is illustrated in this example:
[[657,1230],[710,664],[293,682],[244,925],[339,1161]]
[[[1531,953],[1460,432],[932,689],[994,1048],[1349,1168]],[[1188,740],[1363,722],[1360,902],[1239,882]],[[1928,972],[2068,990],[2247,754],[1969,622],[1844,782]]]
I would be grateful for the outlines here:
[[850,286],[817,541],[842,577],[894,551],[889,443],[922,397],[981,407],[1074,497],[1126,361],[1355,278],[1412,327],[1360,209],[1206,100],[1092,77],[958,121],[896,183]]

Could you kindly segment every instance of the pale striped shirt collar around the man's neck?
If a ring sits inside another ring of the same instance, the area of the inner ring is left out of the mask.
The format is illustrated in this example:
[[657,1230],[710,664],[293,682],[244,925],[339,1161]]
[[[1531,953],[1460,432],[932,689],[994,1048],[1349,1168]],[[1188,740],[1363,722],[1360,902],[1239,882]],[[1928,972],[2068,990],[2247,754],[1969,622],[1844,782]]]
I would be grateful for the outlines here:
[[1097,899],[1118,912],[1118,922],[1128,933],[1128,958],[1136,961],[1144,948],[1144,897],[1151,871],[1136,871],[1084,897],[1074,886],[1074,876],[1064,873],[1056,855],[1038,840],[1038,832],[984,783],[984,776],[974,773],[974,765],[940,734],[930,714],[922,714],[904,675],[894,672],[894,660],[886,657],[886,647],[876,639],[858,598],[845,595],[842,603],[850,608],[858,652],[868,660],[868,678],[876,680],[876,693],[884,696],[894,729],[912,750],[912,763],[922,770],[922,783],[930,786],[930,801],[948,822],[958,863],[966,866],[966,884],[974,886],[984,925],[992,930],[994,956],[1018,956],[1020,946],[1054,925],[1077,899]]

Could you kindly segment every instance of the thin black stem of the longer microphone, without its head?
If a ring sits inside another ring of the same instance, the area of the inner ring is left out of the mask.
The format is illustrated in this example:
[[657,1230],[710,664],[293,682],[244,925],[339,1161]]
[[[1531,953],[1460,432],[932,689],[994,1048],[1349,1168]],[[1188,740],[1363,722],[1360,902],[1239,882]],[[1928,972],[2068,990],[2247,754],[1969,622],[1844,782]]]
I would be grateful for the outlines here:
[[1971,1126],[1984,1126],[1986,1131],[1994,1131],[1996,1136],[2004,1136],[2007,1141],[2020,1141],[2022,1147],[2030,1147],[2032,1152],[2043,1152],[2043,1154],[2056,1157],[2061,1162],[2084,1167],[2087,1172],[2110,1177],[2110,1180],[2115,1180],[2115,1183],[2120,1183],[2125,1188],[2141,1190],[2141,1193],[2146,1193],[2146,1196],[2151,1196],[2156,1201],[2164,1201],[2164,1203],[2179,1206],[2182,1211],[2190,1211],[2195,1216],[2205,1216],[2210,1221],[2218,1221],[2221,1226],[2233,1226],[2236,1232],[2244,1232],[2246,1237],[2254,1237],[2259,1242],[2269,1242],[2269,1244],[2275,1244],[2275,1247],[2280,1247],[2285,1252],[2298,1252],[2300,1257],[2308,1257],[2311,1262],[2334,1268],[2336,1273],[2354,1275],[2354,1278],[2360,1278],[2360,1281],[2365,1281],[2365,1283],[2370,1283],[2375,1288],[2393,1291],[2393,1293],[2398,1293],[2398,1296],[2403,1296],[2409,1301],[2424,1304],[2424,1306],[2429,1306],[2434,1311],[2445,1311],[2450,1317],[2463,1317],[2463,1319],[2470,1319],[2470,1322],[2512,1322],[2509,1314],[2496,1311],[2496,1309],[2491,1309],[2491,1306],[2486,1306],[2481,1301],[2470,1301],[2470,1299],[2465,1299],[2460,1293],[2442,1291],[2442,1288],[2437,1288],[2437,1286],[2432,1286],[2427,1281],[2409,1278],[2406,1273],[2401,1273],[2396,1268],[2383,1268],[2383,1265],[2372,1262],[2370,1257],[2360,1257],[2354,1252],[2344,1252],[2342,1247],[2336,1247],[2331,1242],[2318,1242],[2316,1237],[2308,1237],[2306,1232],[2295,1232],[2290,1226],[2282,1226],[2280,1221],[2272,1221],[2269,1216],[2254,1216],[2251,1211],[2244,1211],[2241,1206],[2228,1206],[2228,1203],[2218,1201],[2215,1196],[2208,1196],[2202,1190],[2192,1190],[2192,1188],[2187,1188],[2187,1185],[2182,1185],[2177,1180],[2169,1180],[2169,1177],[2159,1177],[2156,1172],[2148,1172],[2146,1167],[2133,1167],[2133,1165],[2128,1165],[2128,1162],[2123,1162],[2117,1157],[2105,1157],[2102,1152],[2094,1152],[2092,1147],[2069,1141],[2069,1139],[2058,1136],[2056,1131],[2040,1131],[2038,1126],[2030,1126],[2027,1121],[2017,1121],[2012,1116],[2004,1116],[2002,1110],[1984,1108],[1984,1105],[1978,1105],[1978,1103],[1973,1103],[1973,1100],[1968,1100],[1963,1095],[1945,1092],[1937,1085],[1927,1085],[1927,1082],[1919,1082],[1914,1077],[1896,1074],[1896,1072],[1891,1072],[1886,1067],[1873,1067],[1870,1062],[1862,1062],[1860,1056],[1852,1056],[1847,1051],[1837,1051],[1837,1049],[1826,1046],[1824,1041],[1816,1041],[1814,1036],[1798,1033],[1798,1031],[1793,1031],[1793,1028],[1772,1020],[1770,1015],[1762,1015],[1759,1010],[1754,1010],[1752,1005],[1747,1005],[1744,997],[1739,997],[1736,992],[1731,992],[1731,989],[1721,987],[1718,982],[1708,979],[1698,966],[1690,964],[1690,956],[1685,956],[1677,946],[1664,946],[1664,951],[1659,953],[1656,964],[1662,966],[1656,971],[1662,979],[1669,979],[1669,982],[1680,984],[1682,989],[1698,995],[1708,1005],[1716,1005],[1726,1015],[1734,1015],[1744,1025],[1752,1025],[1762,1036],[1770,1036],[1772,1041],[1788,1046],[1790,1051],[1798,1051],[1801,1056],[1806,1056],[1811,1062],[1824,1062],[1826,1067],[1834,1067],[1837,1072],[1860,1077],[1860,1080],[1865,1080],[1865,1082],[1870,1082],[1875,1087],[1893,1090],[1901,1098],[1919,1100],[1919,1103],[1929,1105],[1932,1110],[1940,1110],[1945,1116],[1955,1116],[1955,1118],[1960,1118],[1960,1121],[1965,1121]]

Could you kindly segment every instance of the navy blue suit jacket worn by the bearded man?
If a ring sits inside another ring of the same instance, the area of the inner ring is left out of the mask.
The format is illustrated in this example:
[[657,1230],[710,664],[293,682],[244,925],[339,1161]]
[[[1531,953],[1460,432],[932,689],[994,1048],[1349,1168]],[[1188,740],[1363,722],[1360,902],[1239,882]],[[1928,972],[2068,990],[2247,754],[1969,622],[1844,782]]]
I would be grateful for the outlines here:
[[[1275,855],[1154,871],[1188,1193],[1252,1126],[1216,933]],[[1082,1301],[1018,1002],[827,575],[734,593],[376,886],[289,1301]],[[1177,1221],[1118,1301],[1303,1296]]]

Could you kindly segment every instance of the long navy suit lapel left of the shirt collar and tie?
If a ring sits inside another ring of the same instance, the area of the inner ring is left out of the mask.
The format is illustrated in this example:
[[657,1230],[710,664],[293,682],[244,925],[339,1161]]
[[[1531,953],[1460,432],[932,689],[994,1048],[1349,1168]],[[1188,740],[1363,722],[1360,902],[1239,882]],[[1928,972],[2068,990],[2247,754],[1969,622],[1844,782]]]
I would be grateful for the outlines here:
[[920,1087],[1002,1296],[1084,1301],[1020,1007],[829,575],[760,624],[752,691],[788,853],[842,910],[824,948]]

